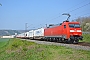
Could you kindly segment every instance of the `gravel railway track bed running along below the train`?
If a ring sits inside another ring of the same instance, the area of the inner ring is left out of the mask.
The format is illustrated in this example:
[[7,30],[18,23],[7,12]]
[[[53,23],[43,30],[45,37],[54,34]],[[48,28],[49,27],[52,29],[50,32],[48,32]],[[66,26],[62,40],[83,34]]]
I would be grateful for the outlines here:
[[90,43],[86,43],[86,42],[79,42],[78,44],[66,44],[66,43],[48,42],[48,41],[40,41],[40,40],[29,40],[29,39],[22,39],[22,40],[35,42],[37,44],[65,46],[67,48],[90,51]]

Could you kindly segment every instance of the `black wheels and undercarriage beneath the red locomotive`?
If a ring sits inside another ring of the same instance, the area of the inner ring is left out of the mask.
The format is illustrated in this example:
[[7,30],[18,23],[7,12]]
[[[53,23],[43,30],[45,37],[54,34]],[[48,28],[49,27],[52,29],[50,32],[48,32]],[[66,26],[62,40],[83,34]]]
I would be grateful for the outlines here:
[[64,42],[64,43],[78,43],[79,40],[82,40],[82,36],[78,36],[78,35],[74,35],[74,36],[70,36],[69,39],[65,39],[62,37],[45,37],[44,40],[45,41],[51,41],[51,42]]

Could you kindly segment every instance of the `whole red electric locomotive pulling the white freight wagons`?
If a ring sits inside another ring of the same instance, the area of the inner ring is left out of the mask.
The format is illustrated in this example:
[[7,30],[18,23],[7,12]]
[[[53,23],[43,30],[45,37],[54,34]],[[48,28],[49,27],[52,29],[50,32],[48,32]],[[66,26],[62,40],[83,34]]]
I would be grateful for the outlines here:
[[80,23],[69,22],[68,20],[59,25],[46,28],[44,37],[47,40],[67,43],[78,43],[83,38]]

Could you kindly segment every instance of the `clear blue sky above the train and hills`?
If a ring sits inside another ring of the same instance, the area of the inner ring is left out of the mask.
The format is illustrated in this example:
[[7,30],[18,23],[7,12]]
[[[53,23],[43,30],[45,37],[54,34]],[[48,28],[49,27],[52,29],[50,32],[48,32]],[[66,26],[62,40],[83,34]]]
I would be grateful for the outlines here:
[[37,29],[90,16],[90,0],[0,0],[0,30]]

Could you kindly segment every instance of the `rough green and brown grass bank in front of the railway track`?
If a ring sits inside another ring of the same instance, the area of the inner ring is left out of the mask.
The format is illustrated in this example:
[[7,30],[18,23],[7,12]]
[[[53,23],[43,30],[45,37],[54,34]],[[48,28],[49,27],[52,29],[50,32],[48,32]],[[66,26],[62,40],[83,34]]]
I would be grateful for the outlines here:
[[10,39],[0,50],[0,60],[90,60],[90,51]]

